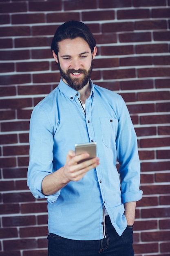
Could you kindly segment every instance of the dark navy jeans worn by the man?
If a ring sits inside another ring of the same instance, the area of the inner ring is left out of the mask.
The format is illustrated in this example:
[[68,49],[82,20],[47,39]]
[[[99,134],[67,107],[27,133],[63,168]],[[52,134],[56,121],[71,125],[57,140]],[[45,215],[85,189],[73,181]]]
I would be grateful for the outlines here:
[[48,256],[134,256],[132,234],[132,226],[128,226],[119,236],[112,226],[109,216],[106,216],[106,238],[79,241],[50,233]]

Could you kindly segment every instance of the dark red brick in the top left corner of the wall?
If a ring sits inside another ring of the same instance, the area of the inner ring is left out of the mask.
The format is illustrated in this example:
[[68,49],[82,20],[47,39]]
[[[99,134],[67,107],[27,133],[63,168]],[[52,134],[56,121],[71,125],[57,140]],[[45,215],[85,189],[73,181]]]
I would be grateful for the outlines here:
[[18,3],[0,3],[0,12],[1,13],[13,13],[27,11],[26,2]]

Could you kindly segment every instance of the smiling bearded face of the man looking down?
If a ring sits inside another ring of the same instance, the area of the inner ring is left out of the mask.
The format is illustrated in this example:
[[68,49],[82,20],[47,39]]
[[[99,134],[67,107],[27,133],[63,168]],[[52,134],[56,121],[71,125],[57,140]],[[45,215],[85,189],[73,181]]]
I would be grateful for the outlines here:
[[74,90],[81,90],[89,83],[96,47],[91,53],[88,43],[79,37],[62,40],[58,46],[58,58],[54,51],[53,56],[58,63],[63,81]]

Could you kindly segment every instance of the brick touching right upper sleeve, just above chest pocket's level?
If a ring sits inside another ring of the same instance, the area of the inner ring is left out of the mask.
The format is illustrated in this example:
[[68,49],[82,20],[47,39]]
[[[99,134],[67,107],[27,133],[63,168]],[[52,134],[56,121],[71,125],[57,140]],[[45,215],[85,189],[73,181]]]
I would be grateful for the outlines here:
[[[130,114],[155,112],[154,104],[130,104],[127,105]],[[141,117],[142,118],[142,117]],[[142,124],[142,123],[141,123]]]

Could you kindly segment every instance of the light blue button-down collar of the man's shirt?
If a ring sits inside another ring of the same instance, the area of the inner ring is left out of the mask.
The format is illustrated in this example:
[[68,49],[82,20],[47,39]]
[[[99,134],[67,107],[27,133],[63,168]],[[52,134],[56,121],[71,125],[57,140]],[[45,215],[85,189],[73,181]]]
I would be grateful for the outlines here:
[[[92,80],[89,80],[90,85],[91,85],[91,97],[94,94],[94,85]],[[77,96],[77,94],[79,95],[79,92],[74,90],[73,88],[71,88],[69,85],[67,85],[66,83],[63,82],[62,78],[60,79],[60,83],[58,85],[59,90],[66,95],[71,101],[73,101],[75,99],[75,97]]]

